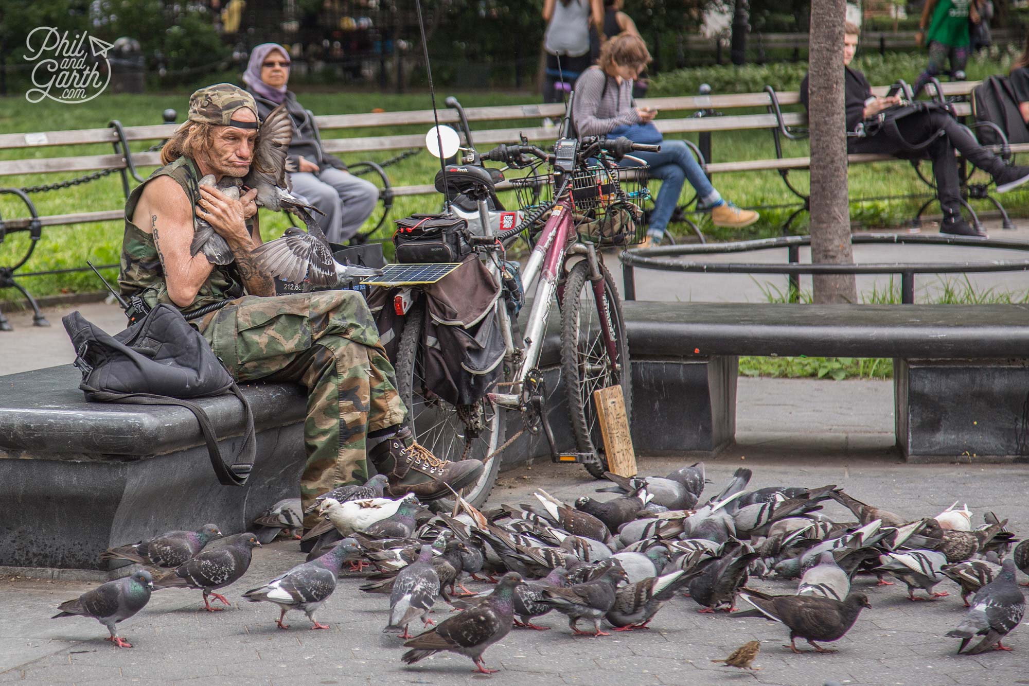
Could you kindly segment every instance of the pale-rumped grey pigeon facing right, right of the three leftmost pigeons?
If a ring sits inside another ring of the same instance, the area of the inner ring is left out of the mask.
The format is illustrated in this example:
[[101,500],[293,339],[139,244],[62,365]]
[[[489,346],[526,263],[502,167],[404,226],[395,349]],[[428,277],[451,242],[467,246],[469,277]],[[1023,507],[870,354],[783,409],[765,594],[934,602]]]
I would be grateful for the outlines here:
[[263,586],[248,590],[243,597],[251,603],[265,601],[278,605],[281,611],[275,623],[279,628],[289,628],[289,624],[283,623],[288,611],[300,610],[314,623],[312,629],[327,629],[328,624],[319,623],[315,612],[335,590],[340,568],[348,548],[347,543],[341,542],[321,557],[297,564]]

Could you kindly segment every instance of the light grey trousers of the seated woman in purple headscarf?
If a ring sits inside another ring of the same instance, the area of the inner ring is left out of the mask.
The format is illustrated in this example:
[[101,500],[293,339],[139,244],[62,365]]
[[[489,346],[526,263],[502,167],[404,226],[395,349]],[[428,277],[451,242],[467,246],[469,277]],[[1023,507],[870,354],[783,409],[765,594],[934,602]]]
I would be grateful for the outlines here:
[[325,216],[315,215],[331,243],[342,243],[361,228],[379,202],[379,188],[359,176],[325,166],[321,171],[290,174],[293,195],[301,196]]

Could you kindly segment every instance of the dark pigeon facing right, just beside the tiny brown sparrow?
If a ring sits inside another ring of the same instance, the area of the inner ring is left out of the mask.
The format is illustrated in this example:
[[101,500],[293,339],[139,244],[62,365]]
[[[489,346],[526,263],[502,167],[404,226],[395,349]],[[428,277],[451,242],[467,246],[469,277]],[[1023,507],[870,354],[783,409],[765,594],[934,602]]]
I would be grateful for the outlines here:
[[756,592],[743,592],[740,597],[754,606],[755,610],[741,612],[737,617],[765,617],[782,622],[789,627],[789,649],[797,650],[795,641],[804,639],[819,653],[835,653],[822,648],[815,641],[837,641],[842,639],[857,621],[864,608],[871,608],[864,593],[851,593],[842,602],[819,595],[776,595],[764,596]]

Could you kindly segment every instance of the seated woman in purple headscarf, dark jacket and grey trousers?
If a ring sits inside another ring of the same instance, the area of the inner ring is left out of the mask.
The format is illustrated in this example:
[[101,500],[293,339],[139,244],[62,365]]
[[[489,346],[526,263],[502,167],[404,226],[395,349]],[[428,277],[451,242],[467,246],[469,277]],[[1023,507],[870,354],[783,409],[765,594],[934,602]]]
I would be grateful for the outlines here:
[[286,103],[293,121],[288,157],[297,169],[290,174],[293,195],[325,212],[317,217],[318,225],[330,242],[343,243],[352,238],[376,208],[379,188],[348,172],[347,165],[339,158],[322,150],[316,135],[318,125],[296,101],[293,92],[286,90],[289,53],[278,43],[257,45],[250,53],[243,82],[257,102],[261,119]]

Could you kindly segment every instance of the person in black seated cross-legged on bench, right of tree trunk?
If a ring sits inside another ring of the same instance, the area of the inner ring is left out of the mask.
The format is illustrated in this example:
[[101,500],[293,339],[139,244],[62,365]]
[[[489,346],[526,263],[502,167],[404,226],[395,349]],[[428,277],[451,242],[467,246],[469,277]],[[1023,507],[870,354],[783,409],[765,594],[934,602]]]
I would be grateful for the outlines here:
[[[864,74],[850,68],[857,49],[859,29],[847,22],[844,37],[844,89],[847,108],[847,150],[848,152],[873,152],[893,155],[901,159],[917,159],[923,152],[932,160],[932,173],[936,181],[936,195],[944,212],[939,232],[959,236],[985,236],[961,216],[961,182],[958,176],[954,149],[962,157],[991,174],[997,183],[997,193],[1004,193],[1029,181],[1029,167],[1007,166],[1003,160],[983,147],[971,131],[953,116],[939,109],[914,112],[896,119],[901,138],[888,127],[875,131],[875,119],[881,113],[900,104],[899,96],[884,98],[874,96]],[[808,107],[808,77],[801,82],[801,102]],[[930,138],[932,143],[924,150],[913,150]]]

